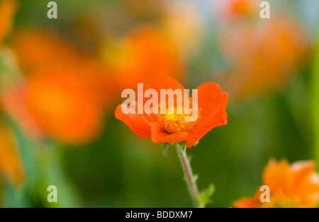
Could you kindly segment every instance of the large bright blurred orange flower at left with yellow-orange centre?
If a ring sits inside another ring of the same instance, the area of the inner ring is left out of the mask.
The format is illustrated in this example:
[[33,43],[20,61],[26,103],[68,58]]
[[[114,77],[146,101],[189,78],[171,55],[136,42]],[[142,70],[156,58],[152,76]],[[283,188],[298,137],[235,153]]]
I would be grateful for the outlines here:
[[99,98],[72,66],[33,72],[26,82],[2,93],[6,110],[30,136],[50,136],[65,144],[82,144],[103,124]]

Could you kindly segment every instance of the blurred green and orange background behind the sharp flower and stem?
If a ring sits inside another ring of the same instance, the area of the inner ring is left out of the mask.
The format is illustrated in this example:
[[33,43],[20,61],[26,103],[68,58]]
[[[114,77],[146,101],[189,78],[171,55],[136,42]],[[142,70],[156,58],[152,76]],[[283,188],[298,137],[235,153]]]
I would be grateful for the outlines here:
[[191,207],[174,148],[114,117],[159,76],[228,92],[228,124],[187,150],[208,207],[252,196],[269,158],[319,162],[319,1],[48,2],[0,0],[0,206]]

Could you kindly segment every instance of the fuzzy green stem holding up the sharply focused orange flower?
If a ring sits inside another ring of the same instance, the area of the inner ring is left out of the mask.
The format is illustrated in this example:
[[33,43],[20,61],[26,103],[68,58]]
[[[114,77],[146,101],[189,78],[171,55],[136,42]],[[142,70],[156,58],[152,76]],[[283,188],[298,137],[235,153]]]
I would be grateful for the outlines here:
[[202,207],[198,203],[199,192],[196,185],[196,179],[191,171],[191,165],[189,164],[189,159],[186,156],[186,151],[181,148],[181,146],[176,143],[177,154],[179,156],[179,160],[181,160],[181,168],[184,171],[185,180],[187,187],[189,188],[189,194],[191,196],[191,200],[193,201],[194,207]]

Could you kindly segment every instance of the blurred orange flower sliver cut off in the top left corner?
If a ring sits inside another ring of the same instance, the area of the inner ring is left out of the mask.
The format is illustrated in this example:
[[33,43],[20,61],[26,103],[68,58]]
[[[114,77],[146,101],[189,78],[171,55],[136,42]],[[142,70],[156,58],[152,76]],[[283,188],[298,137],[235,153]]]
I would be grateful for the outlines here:
[[11,29],[13,17],[16,15],[16,8],[18,8],[16,0],[0,0],[0,46]]

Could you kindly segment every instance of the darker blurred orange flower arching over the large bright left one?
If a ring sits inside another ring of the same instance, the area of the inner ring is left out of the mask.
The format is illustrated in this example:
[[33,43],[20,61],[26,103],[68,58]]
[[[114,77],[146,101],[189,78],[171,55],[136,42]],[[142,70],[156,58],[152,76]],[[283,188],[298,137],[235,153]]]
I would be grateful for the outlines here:
[[49,69],[62,69],[58,72],[77,76],[94,94],[94,99],[100,100],[102,105],[111,103],[111,76],[94,58],[79,52],[53,30],[19,30],[13,38],[12,47],[19,66],[26,74],[39,73],[38,69],[43,73]]

